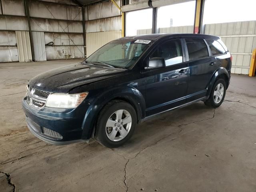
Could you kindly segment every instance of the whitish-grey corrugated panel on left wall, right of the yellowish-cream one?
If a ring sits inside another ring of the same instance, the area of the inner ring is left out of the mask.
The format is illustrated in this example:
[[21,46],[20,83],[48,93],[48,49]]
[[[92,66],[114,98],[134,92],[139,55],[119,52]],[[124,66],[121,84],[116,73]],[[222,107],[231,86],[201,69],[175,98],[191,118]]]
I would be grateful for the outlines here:
[[36,61],[46,61],[44,32],[32,32]]

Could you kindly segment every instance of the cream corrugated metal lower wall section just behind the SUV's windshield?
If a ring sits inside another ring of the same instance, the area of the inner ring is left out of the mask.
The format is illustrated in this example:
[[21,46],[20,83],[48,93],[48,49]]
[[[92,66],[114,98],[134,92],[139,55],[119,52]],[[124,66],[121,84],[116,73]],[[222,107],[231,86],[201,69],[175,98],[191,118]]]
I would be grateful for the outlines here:
[[122,31],[95,32],[86,34],[87,57],[108,42],[122,37]]

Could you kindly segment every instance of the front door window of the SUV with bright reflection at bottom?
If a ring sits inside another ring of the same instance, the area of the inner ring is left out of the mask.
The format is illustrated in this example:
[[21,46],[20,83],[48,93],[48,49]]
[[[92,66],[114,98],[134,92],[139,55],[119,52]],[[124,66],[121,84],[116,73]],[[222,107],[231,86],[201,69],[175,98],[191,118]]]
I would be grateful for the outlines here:
[[164,58],[166,66],[183,62],[180,40],[170,40],[161,44],[150,56]]

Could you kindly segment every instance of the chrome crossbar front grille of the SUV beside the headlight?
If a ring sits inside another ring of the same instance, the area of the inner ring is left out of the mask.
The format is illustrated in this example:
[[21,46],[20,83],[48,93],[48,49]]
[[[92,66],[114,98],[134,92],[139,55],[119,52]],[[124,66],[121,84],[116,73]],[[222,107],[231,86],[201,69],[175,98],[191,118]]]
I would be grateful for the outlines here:
[[38,90],[30,87],[27,93],[27,103],[35,109],[40,110],[46,103],[51,92]]

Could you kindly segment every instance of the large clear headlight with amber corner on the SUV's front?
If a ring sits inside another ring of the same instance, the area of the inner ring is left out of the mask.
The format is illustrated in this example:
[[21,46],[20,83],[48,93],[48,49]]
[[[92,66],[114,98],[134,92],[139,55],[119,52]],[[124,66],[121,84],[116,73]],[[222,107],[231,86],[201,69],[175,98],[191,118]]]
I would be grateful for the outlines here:
[[86,98],[88,92],[79,94],[53,93],[47,98],[45,106],[55,108],[76,108]]

